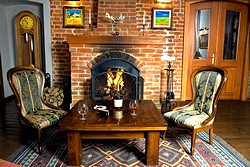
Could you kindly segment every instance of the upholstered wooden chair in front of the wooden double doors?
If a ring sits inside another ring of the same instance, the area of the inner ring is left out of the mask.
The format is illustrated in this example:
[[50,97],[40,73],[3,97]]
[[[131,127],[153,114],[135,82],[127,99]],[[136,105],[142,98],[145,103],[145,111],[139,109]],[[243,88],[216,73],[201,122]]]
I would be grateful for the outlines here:
[[164,117],[177,127],[191,130],[191,155],[194,154],[197,133],[209,130],[209,142],[213,144],[213,123],[217,112],[217,102],[227,80],[224,70],[216,67],[196,69],[191,76],[193,98],[182,107],[166,112]]

